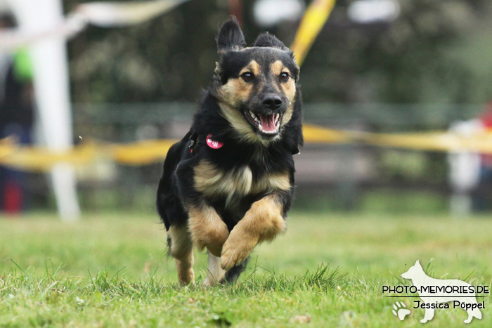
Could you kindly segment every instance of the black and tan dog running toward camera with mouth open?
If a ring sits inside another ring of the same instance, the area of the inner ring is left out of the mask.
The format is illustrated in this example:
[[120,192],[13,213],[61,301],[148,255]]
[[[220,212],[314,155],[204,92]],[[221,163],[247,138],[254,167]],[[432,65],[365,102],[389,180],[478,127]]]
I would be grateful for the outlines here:
[[209,252],[205,284],[232,281],[252,249],[285,230],[302,145],[299,67],[271,34],[246,47],[238,22],[217,38],[216,75],[190,132],[169,149],[157,209],[179,282],[193,282],[193,245]]

